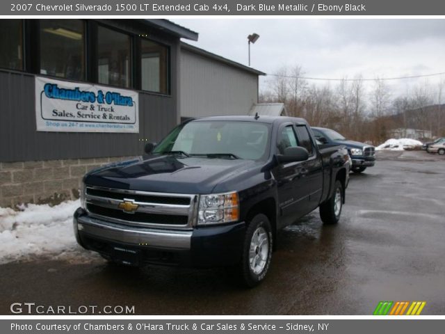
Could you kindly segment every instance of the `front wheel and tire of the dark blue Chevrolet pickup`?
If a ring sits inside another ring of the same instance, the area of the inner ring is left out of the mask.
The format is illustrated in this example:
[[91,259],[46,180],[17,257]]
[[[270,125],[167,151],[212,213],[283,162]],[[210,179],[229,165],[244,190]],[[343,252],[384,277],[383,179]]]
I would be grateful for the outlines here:
[[244,286],[254,287],[264,280],[272,258],[272,247],[269,219],[264,214],[257,214],[245,231],[243,256],[238,266],[240,281]]

